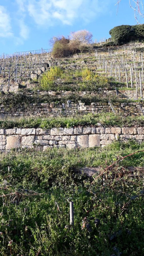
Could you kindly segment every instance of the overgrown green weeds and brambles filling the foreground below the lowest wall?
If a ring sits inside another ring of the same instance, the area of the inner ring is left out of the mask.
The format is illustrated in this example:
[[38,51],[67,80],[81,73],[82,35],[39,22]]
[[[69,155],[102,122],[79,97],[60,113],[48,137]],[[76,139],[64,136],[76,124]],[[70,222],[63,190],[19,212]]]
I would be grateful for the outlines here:
[[[130,177],[123,168],[143,166],[143,152],[107,171],[105,186],[101,177],[90,184],[74,172],[75,167],[106,167],[118,155],[143,146],[115,142],[105,149],[2,155],[1,256],[143,255],[143,178]],[[74,229],[69,226],[70,200]]]

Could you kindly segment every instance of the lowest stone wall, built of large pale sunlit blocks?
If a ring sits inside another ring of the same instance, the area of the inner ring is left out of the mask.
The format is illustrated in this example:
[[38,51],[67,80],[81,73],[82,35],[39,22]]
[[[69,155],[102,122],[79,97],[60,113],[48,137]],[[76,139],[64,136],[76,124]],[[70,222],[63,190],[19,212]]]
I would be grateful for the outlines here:
[[78,147],[104,147],[113,141],[134,139],[144,141],[144,127],[77,127],[52,129],[0,129],[0,150],[11,148],[35,148],[45,150],[52,147],[76,149]]

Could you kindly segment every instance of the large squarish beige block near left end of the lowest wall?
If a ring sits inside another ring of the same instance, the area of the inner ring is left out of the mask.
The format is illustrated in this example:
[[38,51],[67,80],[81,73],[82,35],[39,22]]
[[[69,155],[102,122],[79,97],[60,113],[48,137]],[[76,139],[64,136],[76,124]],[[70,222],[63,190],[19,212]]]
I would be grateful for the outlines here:
[[22,146],[21,135],[8,135],[6,137],[6,149],[18,148]]

